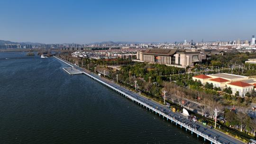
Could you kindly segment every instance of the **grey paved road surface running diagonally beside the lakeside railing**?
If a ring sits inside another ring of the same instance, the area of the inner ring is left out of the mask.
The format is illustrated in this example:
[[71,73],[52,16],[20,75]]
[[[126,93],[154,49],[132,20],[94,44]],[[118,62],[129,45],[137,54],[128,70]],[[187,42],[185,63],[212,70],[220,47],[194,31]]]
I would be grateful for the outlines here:
[[[69,62],[67,62],[67,63],[69,63]],[[235,139],[235,138],[233,138],[229,135],[221,133],[221,132],[219,132],[219,131],[217,131],[213,128],[210,128],[209,126],[204,126],[199,122],[194,122],[194,121],[188,119],[187,117],[185,117],[184,115],[182,115],[181,113],[173,112],[173,111],[171,111],[170,108],[167,108],[166,106],[163,106],[163,105],[161,105],[161,104],[159,104],[155,101],[147,99],[147,98],[141,96],[139,93],[127,90],[124,87],[119,86],[117,83],[114,83],[114,82],[112,82],[108,79],[105,79],[104,77],[101,77],[101,76],[99,76],[95,73],[89,72],[88,70],[82,69],[82,68],[74,65],[73,63],[70,63],[70,64],[72,64],[75,68],[79,69],[80,71],[89,73],[93,77],[108,83],[112,87],[114,87],[116,89],[119,89],[122,92],[125,92],[126,94],[132,96],[133,98],[136,98],[136,99],[148,104],[149,106],[164,112],[166,115],[168,115],[170,117],[173,117],[176,120],[178,120],[178,121],[180,121],[180,122],[182,122],[182,123],[184,123],[188,126],[197,128],[197,130],[200,131],[201,133],[206,134],[206,135],[208,135],[209,137],[211,137],[213,139],[216,139],[218,142],[220,142],[222,144],[245,144],[245,143],[243,143],[243,142],[241,142],[241,141],[239,141],[239,140],[237,140],[237,139]]]

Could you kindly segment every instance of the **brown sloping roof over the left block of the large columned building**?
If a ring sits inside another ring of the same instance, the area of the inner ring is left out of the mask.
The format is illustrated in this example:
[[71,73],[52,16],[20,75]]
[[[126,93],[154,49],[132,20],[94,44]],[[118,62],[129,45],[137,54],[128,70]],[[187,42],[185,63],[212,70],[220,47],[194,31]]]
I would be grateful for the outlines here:
[[143,54],[172,56],[177,49],[146,49]]

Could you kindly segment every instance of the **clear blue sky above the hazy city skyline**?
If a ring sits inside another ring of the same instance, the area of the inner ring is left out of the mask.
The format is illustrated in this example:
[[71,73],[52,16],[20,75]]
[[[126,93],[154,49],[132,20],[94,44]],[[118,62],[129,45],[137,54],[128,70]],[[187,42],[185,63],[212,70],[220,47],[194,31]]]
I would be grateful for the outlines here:
[[0,0],[0,40],[250,40],[256,0]]

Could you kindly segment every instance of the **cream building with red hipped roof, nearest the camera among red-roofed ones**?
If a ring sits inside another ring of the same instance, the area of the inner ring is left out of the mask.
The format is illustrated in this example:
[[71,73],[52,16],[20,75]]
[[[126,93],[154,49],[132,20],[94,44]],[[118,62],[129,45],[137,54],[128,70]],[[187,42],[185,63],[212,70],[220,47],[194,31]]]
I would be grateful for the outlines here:
[[243,81],[235,81],[227,84],[227,87],[230,87],[233,95],[237,91],[239,91],[239,95],[244,97],[247,92],[251,93],[254,90],[254,85],[243,82]]

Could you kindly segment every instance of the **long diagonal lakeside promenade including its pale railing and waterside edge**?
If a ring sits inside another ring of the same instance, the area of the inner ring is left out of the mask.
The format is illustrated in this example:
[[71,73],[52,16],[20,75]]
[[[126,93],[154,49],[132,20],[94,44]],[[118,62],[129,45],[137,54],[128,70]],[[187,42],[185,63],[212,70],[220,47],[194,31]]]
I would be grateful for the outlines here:
[[[60,58],[58,59],[61,60]],[[211,129],[209,126],[204,126],[201,123],[193,122],[187,117],[183,116],[181,113],[173,112],[170,108],[167,108],[166,106],[163,106],[155,101],[147,99],[136,92],[127,90],[124,87],[119,86],[117,83],[105,79],[104,77],[89,72],[88,70],[82,69],[64,60],[61,61],[72,65],[73,67],[76,67],[77,69],[81,70],[85,75],[109,87],[110,89],[115,90],[126,98],[131,99],[141,107],[144,107],[145,109],[148,109],[155,114],[159,114],[160,117],[163,117],[167,121],[175,123],[175,125],[179,125],[181,128],[185,128],[185,130],[190,131],[191,134],[196,134],[198,137],[203,137],[204,140],[209,140],[211,144],[245,144],[229,135],[219,132],[213,128]]]

